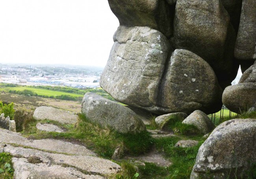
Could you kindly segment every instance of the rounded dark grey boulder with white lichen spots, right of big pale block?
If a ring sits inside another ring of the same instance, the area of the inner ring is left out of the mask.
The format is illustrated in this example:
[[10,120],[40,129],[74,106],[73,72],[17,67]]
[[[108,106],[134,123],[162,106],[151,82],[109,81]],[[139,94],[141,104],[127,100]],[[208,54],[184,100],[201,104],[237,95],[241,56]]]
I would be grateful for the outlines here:
[[222,89],[211,66],[201,57],[176,49],[167,66],[158,94],[160,110],[189,114],[199,109],[212,114],[221,109]]

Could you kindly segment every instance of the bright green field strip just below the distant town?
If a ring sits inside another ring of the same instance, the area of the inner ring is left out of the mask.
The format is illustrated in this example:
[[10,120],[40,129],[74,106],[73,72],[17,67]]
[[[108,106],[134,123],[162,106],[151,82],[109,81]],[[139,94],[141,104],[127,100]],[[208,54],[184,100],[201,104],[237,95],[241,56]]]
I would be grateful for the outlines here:
[[38,95],[45,95],[45,96],[61,96],[61,95],[70,95],[74,97],[83,97],[82,94],[74,94],[69,92],[61,92],[61,91],[53,91],[53,90],[46,90],[46,89],[36,89],[33,87],[7,87],[7,88],[0,88],[1,91],[8,92],[9,90],[32,90],[33,92],[37,93]]

